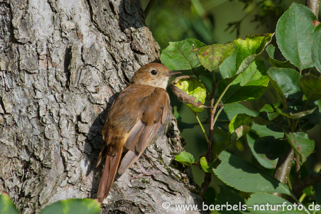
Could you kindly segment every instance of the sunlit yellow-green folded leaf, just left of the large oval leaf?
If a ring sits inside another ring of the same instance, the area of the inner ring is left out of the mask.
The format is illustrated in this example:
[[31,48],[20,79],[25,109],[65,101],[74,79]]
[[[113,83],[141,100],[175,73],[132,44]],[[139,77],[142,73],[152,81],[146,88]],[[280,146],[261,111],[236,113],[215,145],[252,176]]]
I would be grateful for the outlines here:
[[273,35],[267,33],[235,40],[233,53],[220,65],[222,78],[232,78],[245,71],[260,56]]

